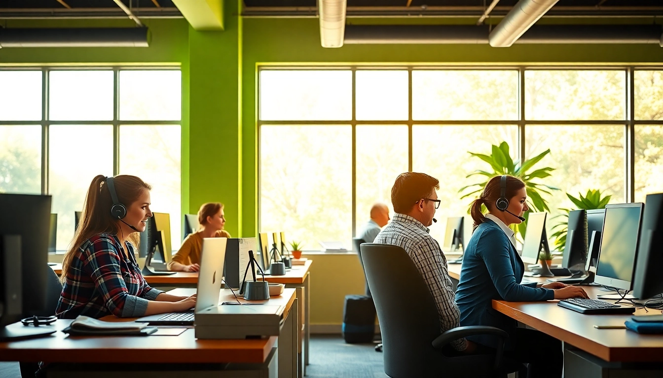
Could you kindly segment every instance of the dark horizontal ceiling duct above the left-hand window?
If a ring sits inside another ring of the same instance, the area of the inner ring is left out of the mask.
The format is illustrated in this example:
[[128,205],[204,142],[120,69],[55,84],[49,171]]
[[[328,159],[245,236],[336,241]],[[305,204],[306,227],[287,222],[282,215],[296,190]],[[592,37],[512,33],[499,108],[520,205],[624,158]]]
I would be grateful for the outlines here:
[[147,28],[0,29],[0,47],[148,47]]

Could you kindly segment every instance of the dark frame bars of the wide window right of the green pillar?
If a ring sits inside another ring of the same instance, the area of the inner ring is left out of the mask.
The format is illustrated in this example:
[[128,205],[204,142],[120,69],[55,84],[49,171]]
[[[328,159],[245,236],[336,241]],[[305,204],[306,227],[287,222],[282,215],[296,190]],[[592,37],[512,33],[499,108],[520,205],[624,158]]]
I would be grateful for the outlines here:
[[[517,125],[518,126],[518,159],[522,160],[525,155],[526,146],[526,126],[545,124],[545,125],[618,125],[624,127],[624,164],[625,164],[625,198],[620,201],[627,203],[634,202],[635,197],[635,126],[636,125],[663,125],[663,120],[636,120],[635,107],[634,107],[634,73],[638,70],[662,70],[660,66],[412,66],[412,65],[390,65],[390,66],[271,66],[263,65],[258,66],[257,74],[257,93],[256,93],[256,115],[257,115],[257,204],[258,209],[262,209],[261,201],[261,128],[263,125],[271,124],[293,124],[293,125],[306,125],[306,124],[327,124],[333,126],[334,124],[351,124],[352,128],[352,236],[356,236],[357,232],[357,177],[356,177],[356,128],[357,125],[402,125],[408,126],[408,171],[412,171],[412,126],[414,124],[436,124],[436,125]],[[352,71],[352,119],[351,120],[261,120],[260,115],[260,101],[261,101],[261,71],[274,71],[274,70],[351,70]],[[408,119],[407,120],[357,120],[356,117],[356,72],[358,70],[407,70],[408,71]],[[517,120],[413,120],[412,119],[412,71],[414,70],[516,70],[518,71],[518,119]],[[607,71],[622,71],[625,75],[626,85],[624,93],[625,103],[625,117],[618,120],[528,120],[525,118],[525,72],[534,70],[549,70],[549,71],[587,71],[587,70],[607,70]],[[260,230],[261,227],[261,213],[257,214],[257,225]]]

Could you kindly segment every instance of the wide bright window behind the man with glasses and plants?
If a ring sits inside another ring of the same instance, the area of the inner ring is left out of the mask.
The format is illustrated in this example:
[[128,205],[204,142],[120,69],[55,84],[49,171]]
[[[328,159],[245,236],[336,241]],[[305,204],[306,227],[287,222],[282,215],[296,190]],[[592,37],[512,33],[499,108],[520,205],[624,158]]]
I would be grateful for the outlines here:
[[490,169],[468,152],[503,141],[513,160],[550,149],[536,166],[555,168],[540,180],[560,189],[551,217],[588,189],[644,201],[663,191],[662,88],[663,71],[635,68],[262,69],[260,230],[349,247],[410,170],[440,180],[442,242],[444,218],[467,216],[459,189],[481,179],[467,175]]

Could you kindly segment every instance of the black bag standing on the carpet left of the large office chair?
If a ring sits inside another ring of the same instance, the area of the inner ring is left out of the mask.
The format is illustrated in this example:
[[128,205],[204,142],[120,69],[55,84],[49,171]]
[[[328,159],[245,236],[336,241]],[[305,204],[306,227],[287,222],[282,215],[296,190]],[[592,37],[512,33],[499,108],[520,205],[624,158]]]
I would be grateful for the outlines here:
[[348,344],[373,342],[375,303],[365,295],[346,295],[343,306],[343,339]]

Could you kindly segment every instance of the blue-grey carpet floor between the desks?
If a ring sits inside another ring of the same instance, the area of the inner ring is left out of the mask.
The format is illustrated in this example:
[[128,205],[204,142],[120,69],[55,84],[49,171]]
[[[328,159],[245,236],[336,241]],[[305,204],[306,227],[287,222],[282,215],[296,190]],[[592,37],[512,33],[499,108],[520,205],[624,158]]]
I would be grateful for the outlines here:
[[[345,344],[340,335],[312,335],[307,378],[386,378],[375,344]],[[21,378],[19,363],[0,363],[0,378]]]

